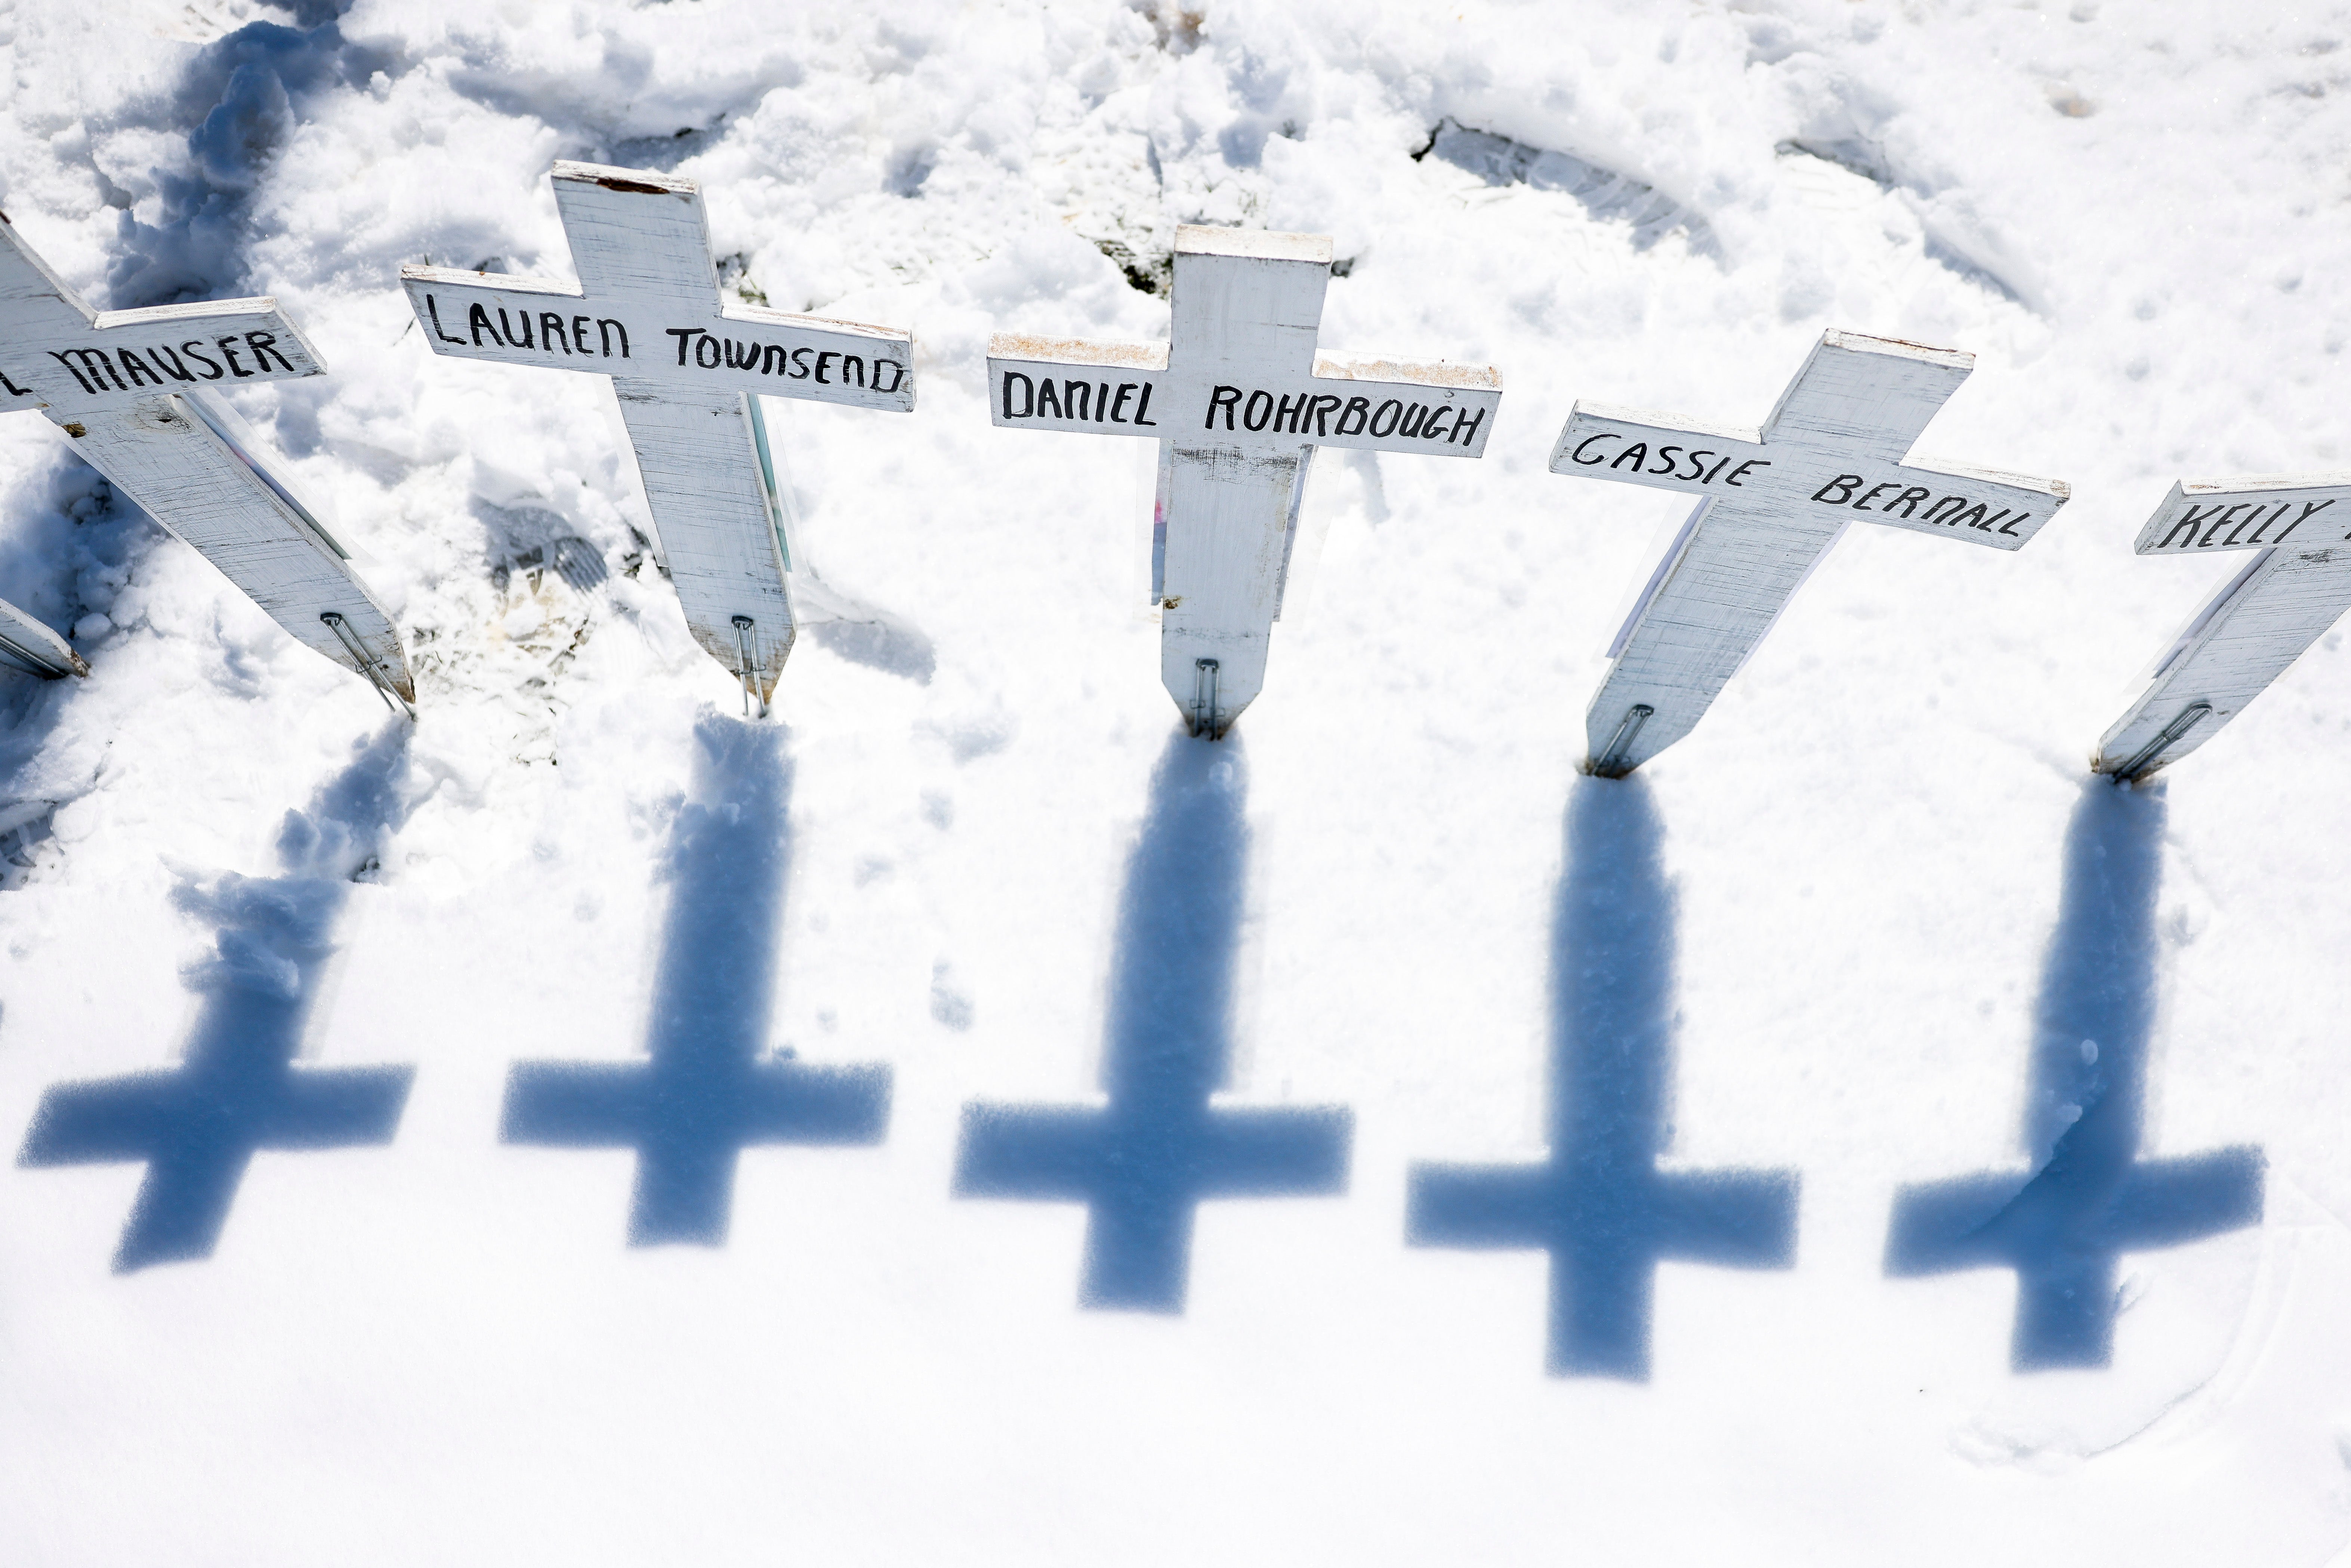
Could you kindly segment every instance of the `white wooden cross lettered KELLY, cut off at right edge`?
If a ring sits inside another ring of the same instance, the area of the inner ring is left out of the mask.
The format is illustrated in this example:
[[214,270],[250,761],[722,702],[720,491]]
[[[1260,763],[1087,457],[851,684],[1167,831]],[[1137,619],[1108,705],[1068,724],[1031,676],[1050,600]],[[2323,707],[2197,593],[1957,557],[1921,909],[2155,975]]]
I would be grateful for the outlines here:
[[2144,778],[2219,733],[2351,609],[2351,473],[2182,480],[2139,555],[2252,550],[2149,668],[2099,743],[2099,773]]

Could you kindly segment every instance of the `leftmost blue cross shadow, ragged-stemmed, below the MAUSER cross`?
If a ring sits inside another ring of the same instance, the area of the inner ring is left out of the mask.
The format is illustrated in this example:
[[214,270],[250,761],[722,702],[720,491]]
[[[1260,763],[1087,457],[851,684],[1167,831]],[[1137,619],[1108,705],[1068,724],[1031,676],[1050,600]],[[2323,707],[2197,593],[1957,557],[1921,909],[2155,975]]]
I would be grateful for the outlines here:
[[146,1161],[115,1272],[209,1258],[259,1150],[393,1140],[414,1067],[294,1067],[294,1056],[350,884],[374,875],[421,799],[409,788],[411,729],[388,722],[308,811],[287,811],[284,875],[179,891],[183,910],[219,929],[214,957],[188,973],[205,1006],[179,1067],[42,1095],[21,1166]]

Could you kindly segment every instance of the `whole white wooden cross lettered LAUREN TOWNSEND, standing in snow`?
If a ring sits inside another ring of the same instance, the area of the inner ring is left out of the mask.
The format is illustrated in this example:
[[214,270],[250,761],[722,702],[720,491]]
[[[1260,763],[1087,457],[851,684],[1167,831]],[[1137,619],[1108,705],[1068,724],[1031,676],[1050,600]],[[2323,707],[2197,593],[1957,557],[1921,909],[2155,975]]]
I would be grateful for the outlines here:
[[701,186],[555,165],[581,287],[404,266],[433,353],[611,376],[694,639],[762,710],[792,651],[776,473],[757,393],[915,407],[915,341],[719,301]]

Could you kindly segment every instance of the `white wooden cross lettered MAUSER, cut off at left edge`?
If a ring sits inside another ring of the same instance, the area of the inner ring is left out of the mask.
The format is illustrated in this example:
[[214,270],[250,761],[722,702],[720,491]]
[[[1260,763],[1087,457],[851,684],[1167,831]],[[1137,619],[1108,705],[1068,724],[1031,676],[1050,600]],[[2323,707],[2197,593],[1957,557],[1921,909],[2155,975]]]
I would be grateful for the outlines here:
[[407,705],[416,686],[390,616],[216,395],[324,369],[275,299],[92,310],[0,216],[0,411],[47,414],[296,642]]

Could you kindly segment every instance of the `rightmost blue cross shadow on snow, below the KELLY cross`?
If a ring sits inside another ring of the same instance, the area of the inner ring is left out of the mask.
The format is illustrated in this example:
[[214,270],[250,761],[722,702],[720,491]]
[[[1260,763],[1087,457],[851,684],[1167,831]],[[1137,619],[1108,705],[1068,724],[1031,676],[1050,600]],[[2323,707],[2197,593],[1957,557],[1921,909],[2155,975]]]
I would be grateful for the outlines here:
[[2139,1159],[2161,882],[2163,792],[2088,780],[2041,973],[2031,1168],[1904,1187],[1895,1199],[1888,1274],[2015,1269],[2017,1371],[2114,1359],[2121,1253],[2262,1220],[2262,1150]]

